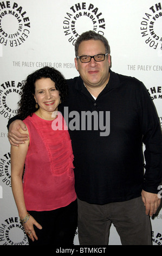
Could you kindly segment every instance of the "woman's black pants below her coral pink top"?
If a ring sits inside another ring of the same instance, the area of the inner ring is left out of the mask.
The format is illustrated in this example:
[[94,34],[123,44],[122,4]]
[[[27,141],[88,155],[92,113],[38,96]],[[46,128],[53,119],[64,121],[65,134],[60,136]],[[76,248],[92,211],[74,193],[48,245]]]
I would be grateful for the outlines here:
[[28,238],[30,245],[72,246],[77,228],[77,200],[53,211],[28,211],[42,225],[36,228],[38,240]]

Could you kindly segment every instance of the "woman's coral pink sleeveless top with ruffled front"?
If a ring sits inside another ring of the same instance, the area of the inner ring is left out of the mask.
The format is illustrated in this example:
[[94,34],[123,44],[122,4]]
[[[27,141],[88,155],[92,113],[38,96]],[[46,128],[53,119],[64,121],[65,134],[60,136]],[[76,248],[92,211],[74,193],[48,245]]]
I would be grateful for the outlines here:
[[[53,130],[53,122],[58,120],[62,122],[62,130]],[[76,199],[70,136],[61,113],[54,121],[36,114],[24,119],[30,137],[23,177],[25,205],[29,211],[54,210]]]

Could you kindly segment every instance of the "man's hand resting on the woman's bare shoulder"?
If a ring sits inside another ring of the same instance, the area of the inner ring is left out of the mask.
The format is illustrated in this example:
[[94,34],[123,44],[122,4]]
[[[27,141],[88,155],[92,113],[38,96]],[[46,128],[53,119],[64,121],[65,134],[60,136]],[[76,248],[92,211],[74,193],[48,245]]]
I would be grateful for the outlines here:
[[18,144],[23,144],[29,139],[28,134],[22,134],[18,131],[20,128],[27,131],[26,125],[21,120],[15,120],[10,124],[8,138],[11,145],[18,147]]

